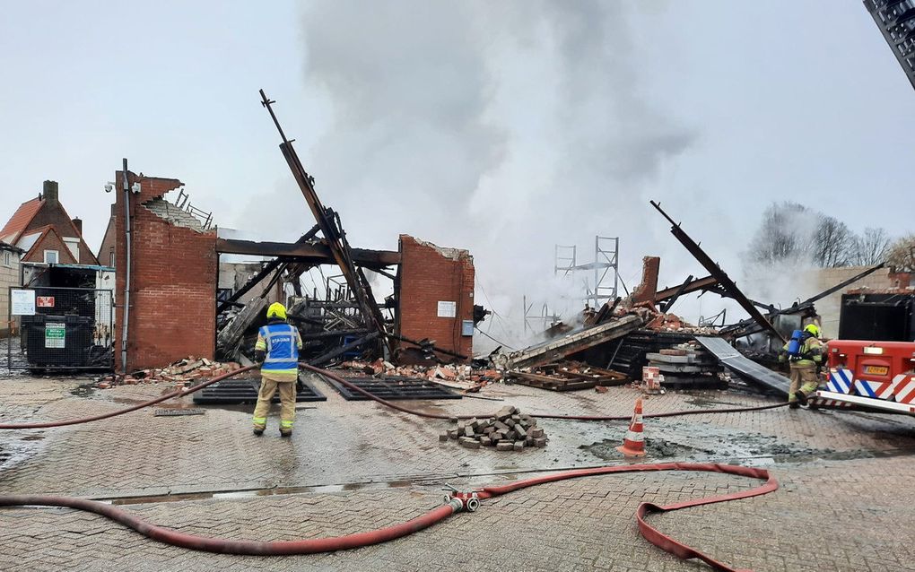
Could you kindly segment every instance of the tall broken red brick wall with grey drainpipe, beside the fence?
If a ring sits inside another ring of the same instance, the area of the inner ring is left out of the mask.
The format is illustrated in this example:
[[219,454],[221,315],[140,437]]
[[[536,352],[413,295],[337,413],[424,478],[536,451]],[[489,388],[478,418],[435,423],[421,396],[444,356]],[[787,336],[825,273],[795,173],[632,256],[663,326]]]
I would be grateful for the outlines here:
[[[124,191],[121,172],[116,173],[117,193],[114,232],[116,238],[117,295],[115,312],[115,360],[121,366],[121,320],[126,278],[124,237]],[[165,221],[142,203],[177,189],[174,178],[128,176],[140,183],[141,193],[131,193],[133,254],[131,308],[128,326],[127,368],[165,365],[194,355],[213,359],[216,335],[216,232],[196,232]]]

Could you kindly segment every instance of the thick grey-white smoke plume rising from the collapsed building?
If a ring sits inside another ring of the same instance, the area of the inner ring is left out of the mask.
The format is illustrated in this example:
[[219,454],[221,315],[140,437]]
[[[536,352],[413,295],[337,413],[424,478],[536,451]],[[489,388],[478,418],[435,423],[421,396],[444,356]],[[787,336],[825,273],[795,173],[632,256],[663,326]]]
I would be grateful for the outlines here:
[[521,328],[523,294],[582,308],[561,300],[578,288],[554,279],[555,243],[581,245],[584,264],[595,234],[620,235],[640,268],[646,184],[694,135],[639,91],[630,9],[401,1],[366,17],[311,3],[305,80],[333,119],[307,163],[350,240],[468,248],[478,303],[511,323],[501,337]]

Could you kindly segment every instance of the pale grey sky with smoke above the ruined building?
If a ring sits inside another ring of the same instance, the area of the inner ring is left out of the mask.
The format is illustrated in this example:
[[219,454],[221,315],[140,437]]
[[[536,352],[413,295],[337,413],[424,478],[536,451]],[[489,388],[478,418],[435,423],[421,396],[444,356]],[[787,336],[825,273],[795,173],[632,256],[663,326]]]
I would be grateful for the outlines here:
[[126,156],[222,226],[295,239],[311,216],[263,87],[351,243],[468,248],[509,321],[569,289],[554,243],[619,235],[630,287],[644,254],[666,284],[702,273],[649,199],[738,280],[773,200],[912,230],[915,92],[858,0],[11,3],[0,70],[0,218],[56,179],[96,248]]

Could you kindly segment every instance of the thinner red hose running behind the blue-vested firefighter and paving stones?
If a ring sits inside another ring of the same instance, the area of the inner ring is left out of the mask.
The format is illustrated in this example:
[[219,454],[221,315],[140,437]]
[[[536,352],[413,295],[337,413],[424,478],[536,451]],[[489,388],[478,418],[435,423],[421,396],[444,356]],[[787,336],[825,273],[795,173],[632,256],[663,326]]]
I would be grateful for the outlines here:
[[[403,412],[406,414],[410,414],[413,416],[426,417],[429,419],[451,419],[454,417],[457,417],[458,419],[471,419],[473,417],[489,416],[489,414],[485,414],[485,413],[480,413],[480,414],[476,414],[476,415],[465,415],[465,416],[448,416],[448,415],[444,415],[444,414],[426,413],[424,411],[417,411],[415,409],[410,409],[408,407],[404,407],[403,405],[397,405],[386,399],[382,399],[381,397],[378,397],[377,395],[371,394],[371,393],[365,391],[364,389],[362,389],[361,387],[359,387],[358,385],[348,382],[345,378],[343,378],[329,370],[324,370],[324,369],[315,367],[313,365],[308,365],[307,363],[304,363],[304,362],[299,363],[299,365],[306,370],[309,370],[312,372],[317,372],[320,375],[324,375],[324,376],[334,380],[335,382],[346,386],[348,389],[350,389],[356,393],[365,395],[369,399],[371,399],[373,401],[377,401],[378,403],[380,403],[386,407],[391,407],[392,409],[396,409],[397,411],[400,411],[400,412]],[[119,409],[117,411],[104,413],[104,414],[98,415],[98,416],[77,417],[74,419],[65,419],[65,420],[61,420],[61,421],[44,421],[44,422],[38,422],[38,423],[0,423],[0,430],[2,430],[2,429],[45,429],[48,427],[78,425],[81,423],[89,423],[91,421],[99,421],[101,419],[108,419],[109,417],[113,417],[113,416],[121,416],[121,415],[124,415],[125,413],[130,413],[132,411],[136,411],[137,409],[143,409],[144,407],[148,407],[149,405],[156,405],[158,403],[162,403],[163,401],[167,401],[168,399],[172,399],[174,397],[181,397],[184,395],[189,395],[189,394],[193,394],[195,392],[199,392],[201,389],[203,389],[204,387],[207,387],[208,385],[212,385],[213,383],[221,382],[222,380],[228,379],[234,375],[237,375],[238,373],[248,372],[250,370],[256,369],[256,367],[257,366],[253,366],[253,365],[245,366],[245,367],[242,367],[233,372],[224,373],[222,375],[217,375],[216,377],[214,377],[210,380],[207,380],[206,382],[200,383],[199,385],[195,385],[194,387],[189,387],[187,389],[178,389],[174,392],[171,392],[170,394],[160,395],[159,397],[156,397],[156,399],[150,399],[149,401],[145,401],[142,404],[131,405],[130,407],[125,407],[124,409]],[[650,414],[646,414],[644,417],[693,416],[693,415],[701,415],[701,414],[705,414],[705,413],[740,413],[740,412],[745,412],[745,411],[763,411],[765,409],[774,409],[776,407],[783,407],[785,405],[788,405],[788,404],[779,403],[779,404],[773,404],[773,405],[757,405],[757,406],[753,406],[753,407],[727,407],[727,408],[722,408],[722,409],[692,409],[692,410],[685,410],[685,411],[669,411],[667,413],[650,413]],[[557,415],[550,415],[550,414],[536,414],[536,415],[533,415],[532,417],[537,417],[540,419],[565,419],[568,421],[628,421],[630,419],[630,416],[557,416]]]

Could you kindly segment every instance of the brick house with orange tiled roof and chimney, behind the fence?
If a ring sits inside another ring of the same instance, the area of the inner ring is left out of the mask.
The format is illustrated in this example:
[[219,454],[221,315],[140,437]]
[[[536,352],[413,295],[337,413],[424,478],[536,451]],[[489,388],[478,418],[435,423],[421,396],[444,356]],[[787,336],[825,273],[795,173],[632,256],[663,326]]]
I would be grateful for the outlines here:
[[19,205],[0,230],[0,242],[25,251],[24,264],[99,264],[82,238],[82,221],[71,219],[60,203],[56,181],[46,180],[37,198]]

